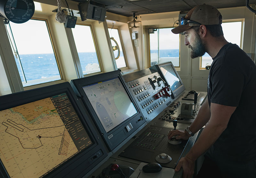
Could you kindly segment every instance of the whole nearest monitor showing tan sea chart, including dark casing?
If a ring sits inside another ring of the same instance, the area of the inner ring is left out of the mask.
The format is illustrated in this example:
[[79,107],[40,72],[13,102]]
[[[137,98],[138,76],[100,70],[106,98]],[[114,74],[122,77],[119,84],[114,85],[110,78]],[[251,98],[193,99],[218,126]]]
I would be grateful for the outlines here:
[[82,177],[107,157],[68,82],[0,100],[3,177]]

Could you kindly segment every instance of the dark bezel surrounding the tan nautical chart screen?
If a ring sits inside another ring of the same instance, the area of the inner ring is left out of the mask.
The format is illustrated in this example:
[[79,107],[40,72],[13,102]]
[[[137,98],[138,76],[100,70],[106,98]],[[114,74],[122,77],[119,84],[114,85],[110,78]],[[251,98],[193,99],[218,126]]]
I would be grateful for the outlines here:
[[[68,99],[73,105],[78,117],[80,118],[84,129],[86,130],[90,140],[92,141],[92,144],[84,148],[83,150],[77,152],[75,155],[73,155],[66,161],[62,162],[58,167],[55,167],[50,172],[47,172],[47,174],[45,174],[46,177],[54,177],[56,175],[64,176],[70,174],[71,172],[73,175],[85,175],[91,170],[92,167],[96,166],[96,164],[93,166],[87,165],[88,167],[86,169],[76,169],[76,167],[83,165],[83,163],[88,164],[87,159],[90,158],[92,154],[94,154],[96,149],[99,150],[100,148],[103,148],[102,143],[98,139],[96,139],[98,137],[97,135],[99,134],[97,134],[97,132],[93,129],[92,124],[88,120],[88,118],[90,118],[89,114],[82,109],[80,104],[77,103],[76,95],[68,82],[51,85],[48,87],[42,87],[38,89],[32,89],[28,91],[22,91],[0,97],[1,101],[3,101],[3,103],[0,105],[0,111],[2,111],[22,104],[28,104],[44,98],[59,95],[62,93],[67,94]],[[103,158],[106,156],[107,152],[103,150]],[[9,174],[7,173],[7,170],[5,169],[4,164],[1,160],[0,163],[2,165],[0,166],[0,172],[4,175],[4,177],[9,177]],[[78,170],[80,170],[80,172]]]

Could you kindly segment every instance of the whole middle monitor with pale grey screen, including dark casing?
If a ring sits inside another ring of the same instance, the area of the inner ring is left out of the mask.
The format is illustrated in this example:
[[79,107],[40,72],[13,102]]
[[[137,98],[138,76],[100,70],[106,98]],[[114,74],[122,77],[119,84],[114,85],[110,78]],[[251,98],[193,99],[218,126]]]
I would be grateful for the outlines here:
[[119,71],[72,80],[112,151],[145,123]]

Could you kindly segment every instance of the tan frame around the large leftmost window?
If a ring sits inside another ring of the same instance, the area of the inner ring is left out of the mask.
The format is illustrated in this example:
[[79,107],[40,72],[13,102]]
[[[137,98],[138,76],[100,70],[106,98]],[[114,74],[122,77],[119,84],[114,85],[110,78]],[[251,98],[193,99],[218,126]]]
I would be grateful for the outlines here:
[[[51,44],[52,44],[53,54],[54,54],[54,57],[56,59],[57,67],[58,67],[58,70],[59,70],[59,73],[60,73],[60,79],[59,80],[55,80],[55,81],[48,81],[48,82],[43,82],[43,83],[38,83],[38,84],[32,84],[32,85],[28,85],[28,86],[23,86],[23,83],[22,83],[22,87],[24,88],[24,90],[35,89],[35,88],[38,88],[38,87],[43,87],[43,86],[48,86],[48,85],[52,85],[52,84],[57,84],[57,83],[63,82],[63,74],[61,72],[60,62],[58,60],[58,56],[57,56],[56,48],[55,48],[55,45],[54,45],[54,42],[53,42],[52,33],[51,33],[51,30],[50,30],[50,25],[49,25],[48,19],[32,17],[31,20],[44,21],[45,24],[46,24],[46,27],[47,27],[47,30],[48,30],[48,34],[49,34],[49,37],[50,37],[50,41],[51,41]],[[13,38],[13,36],[12,36],[12,38]],[[14,40],[14,43],[15,43],[15,40]],[[15,46],[16,46],[16,44],[15,44]],[[19,51],[19,49],[17,49],[17,51]],[[18,54],[19,54],[19,52],[18,52]],[[29,82],[27,82],[27,83],[29,83]]]

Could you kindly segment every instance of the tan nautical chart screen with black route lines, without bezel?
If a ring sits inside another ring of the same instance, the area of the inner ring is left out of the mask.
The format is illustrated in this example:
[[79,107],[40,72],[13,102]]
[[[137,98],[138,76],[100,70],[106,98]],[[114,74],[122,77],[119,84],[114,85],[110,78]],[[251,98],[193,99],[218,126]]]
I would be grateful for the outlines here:
[[42,177],[91,144],[66,93],[0,111],[0,159],[10,177]]

